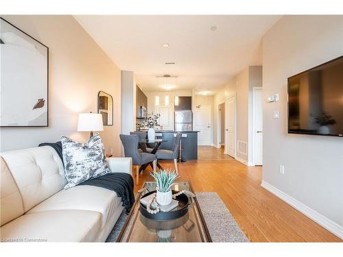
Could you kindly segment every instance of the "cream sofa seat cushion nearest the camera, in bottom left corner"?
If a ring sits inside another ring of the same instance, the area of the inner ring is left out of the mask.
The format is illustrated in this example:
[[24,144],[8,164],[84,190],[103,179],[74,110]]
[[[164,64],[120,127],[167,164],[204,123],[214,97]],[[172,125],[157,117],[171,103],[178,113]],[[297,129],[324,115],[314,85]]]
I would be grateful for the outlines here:
[[100,214],[85,210],[35,212],[14,219],[0,228],[3,241],[96,241]]

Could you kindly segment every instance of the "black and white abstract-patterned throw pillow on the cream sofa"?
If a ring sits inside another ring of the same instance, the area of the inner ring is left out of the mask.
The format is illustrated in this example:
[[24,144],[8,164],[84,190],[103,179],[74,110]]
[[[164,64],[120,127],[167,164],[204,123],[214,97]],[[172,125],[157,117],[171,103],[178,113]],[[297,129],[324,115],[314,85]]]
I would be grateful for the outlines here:
[[62,136],[61,141],[64,173],[67,180],[64,189],[110,172],[104,154],[104,144],[99,134],[84,144],[66,136]]

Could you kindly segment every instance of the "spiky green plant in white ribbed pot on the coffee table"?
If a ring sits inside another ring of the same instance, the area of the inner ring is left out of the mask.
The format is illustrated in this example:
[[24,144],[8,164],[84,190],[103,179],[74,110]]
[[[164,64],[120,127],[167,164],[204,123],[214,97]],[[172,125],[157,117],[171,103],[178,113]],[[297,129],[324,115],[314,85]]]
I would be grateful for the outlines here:
[[168,205],[173,199],[171,186],[178,178],[177,171],[161,170],[150,173],[152,178],[156,180],[156,201],[161,205]]

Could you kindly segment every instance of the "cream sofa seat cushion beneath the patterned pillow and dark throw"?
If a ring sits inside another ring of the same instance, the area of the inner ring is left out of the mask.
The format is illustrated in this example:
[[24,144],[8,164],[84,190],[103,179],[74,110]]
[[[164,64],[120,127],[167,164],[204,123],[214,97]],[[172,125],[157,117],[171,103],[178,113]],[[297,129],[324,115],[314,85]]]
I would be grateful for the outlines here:
[[117,197],[114,191],[98,186],[74,186],[58,192],[27,213],[47,210],[91,210],[102,215],[101,223],[104,228],[108,219],[121,205],[121,197]]

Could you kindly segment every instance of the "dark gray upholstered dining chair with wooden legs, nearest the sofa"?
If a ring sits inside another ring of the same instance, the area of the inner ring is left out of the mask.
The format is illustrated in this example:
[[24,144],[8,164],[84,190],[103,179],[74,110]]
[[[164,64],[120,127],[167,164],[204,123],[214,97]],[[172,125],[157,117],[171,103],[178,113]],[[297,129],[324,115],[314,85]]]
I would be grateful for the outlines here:
[[[136,166],[136,184],[139,184],[139,168],[143,164],[152,162],[152,167],[156,171],[157,159],[154,154],[149,153],[140,153],[138,151],[138,141],[139,138],[137,135],[119,135],[121,143],[124,147],[125,157],[132,158],[132,165]],[[143,172],[143,171],[142,171]]]

